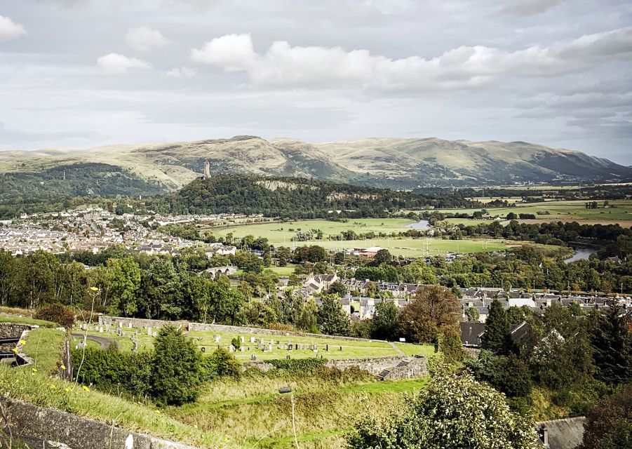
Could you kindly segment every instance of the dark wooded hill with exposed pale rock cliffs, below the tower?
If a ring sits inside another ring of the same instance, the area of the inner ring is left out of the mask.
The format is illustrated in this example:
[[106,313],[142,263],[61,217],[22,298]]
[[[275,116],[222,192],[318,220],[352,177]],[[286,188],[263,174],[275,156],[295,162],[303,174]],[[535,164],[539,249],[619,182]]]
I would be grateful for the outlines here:
[[[262,213],[292,218],[387,217],[411,208],[476,207],[457,196],[421,195],[319,180],[214,175],[177,194],[156,196],[144,206],[161,213]],[[340,210],[340,213],[332,212]],[[335,215],[332,215],[335,214]]]

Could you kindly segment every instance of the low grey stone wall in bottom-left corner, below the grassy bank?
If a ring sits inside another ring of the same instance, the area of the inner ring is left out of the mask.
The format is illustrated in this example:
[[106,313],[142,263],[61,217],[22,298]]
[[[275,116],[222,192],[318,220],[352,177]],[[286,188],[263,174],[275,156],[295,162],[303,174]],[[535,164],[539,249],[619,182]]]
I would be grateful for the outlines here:
[[[195,449],[173,441],[130,432],[103,422],[88,420],[51,408],[42,408],[0,396],[13,435],[53,448],[63,443],[69,449]],[[0,426],[6,429],[6,423]]]

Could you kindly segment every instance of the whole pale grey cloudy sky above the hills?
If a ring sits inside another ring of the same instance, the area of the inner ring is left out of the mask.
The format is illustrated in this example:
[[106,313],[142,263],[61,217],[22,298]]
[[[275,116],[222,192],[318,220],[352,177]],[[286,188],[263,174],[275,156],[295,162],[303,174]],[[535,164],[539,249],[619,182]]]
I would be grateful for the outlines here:
[[627,0],[2,0],[0,149],[525,140],[632,164]]

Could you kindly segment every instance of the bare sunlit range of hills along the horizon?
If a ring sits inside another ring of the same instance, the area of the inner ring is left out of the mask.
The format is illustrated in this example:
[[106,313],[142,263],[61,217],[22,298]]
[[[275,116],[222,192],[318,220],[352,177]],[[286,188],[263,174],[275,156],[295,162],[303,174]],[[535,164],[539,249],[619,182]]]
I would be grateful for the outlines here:
[[205,159],[213,173],[314,177],[402,189],[632,178],[632,168],[607,159],[527,142],[371,138],[310,143],[248,135],[164,145],[0,152],[0,173],[36,176],[75,163],[104,163],[152,189],[175,190],[201,175]]

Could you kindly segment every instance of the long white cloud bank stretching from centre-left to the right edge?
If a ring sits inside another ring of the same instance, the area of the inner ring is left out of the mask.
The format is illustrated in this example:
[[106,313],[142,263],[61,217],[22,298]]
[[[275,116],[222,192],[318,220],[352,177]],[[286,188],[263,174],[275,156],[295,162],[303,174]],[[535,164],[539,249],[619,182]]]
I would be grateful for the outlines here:
[[389,90],[463,89],[498,76],[556,76],[630,58],[632,27],[517,51],[460,46],[429,59],[390,59],[368,50],[291,46],[286,41],[274,41],[260,54],[249,34],[228,34],[191,50],[195,62],[244,71],[255,84],[318,88],[351,83]]

